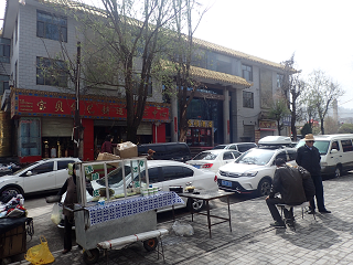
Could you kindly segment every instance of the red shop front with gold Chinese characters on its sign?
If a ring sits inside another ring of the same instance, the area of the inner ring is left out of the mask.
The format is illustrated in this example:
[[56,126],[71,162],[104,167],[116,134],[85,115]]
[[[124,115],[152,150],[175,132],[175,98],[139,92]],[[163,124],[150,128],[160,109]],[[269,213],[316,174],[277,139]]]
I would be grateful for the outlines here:
[[[11,118],[18,120],[17,153],[21,163],[73,156],[75,95],[12,88],[10,97]],[[169,112],[169,104],[146,103],[142,121],[152,126],[153,142],[165,141]],[[81,96],[79,116],[84,127],[82,158],[93,160],[95,120],[126,121],[126,103],[115,97]]]

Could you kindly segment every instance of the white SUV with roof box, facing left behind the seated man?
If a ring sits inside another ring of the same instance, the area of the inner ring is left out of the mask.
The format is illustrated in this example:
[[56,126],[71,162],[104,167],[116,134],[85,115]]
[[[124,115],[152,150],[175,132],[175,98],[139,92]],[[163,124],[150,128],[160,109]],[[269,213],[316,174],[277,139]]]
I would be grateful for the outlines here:
[[275,160],[282,158],[296,166],[297,149],[258,147],[243,153],[235,162],[220,168],[218,187],[226,191],[268,195],[276,166]]

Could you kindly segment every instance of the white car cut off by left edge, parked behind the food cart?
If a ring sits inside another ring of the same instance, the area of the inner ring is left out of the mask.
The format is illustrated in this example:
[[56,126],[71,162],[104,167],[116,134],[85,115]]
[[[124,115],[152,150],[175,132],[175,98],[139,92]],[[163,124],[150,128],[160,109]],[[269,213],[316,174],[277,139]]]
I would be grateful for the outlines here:
[[78,158],[50,158],[0,177],[0,195],[43,193],[58,190],[68,177],[67,165]]

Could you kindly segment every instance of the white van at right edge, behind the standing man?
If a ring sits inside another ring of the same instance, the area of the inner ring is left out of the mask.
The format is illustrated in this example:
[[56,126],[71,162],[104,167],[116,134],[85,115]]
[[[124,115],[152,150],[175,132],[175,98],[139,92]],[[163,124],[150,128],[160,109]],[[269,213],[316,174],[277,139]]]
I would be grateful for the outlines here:
[[[313,146],[321,155],[321,173],[340,177],[353,170],[353,134],[314,136]],[[301,139],[296,148],[306,144]]]

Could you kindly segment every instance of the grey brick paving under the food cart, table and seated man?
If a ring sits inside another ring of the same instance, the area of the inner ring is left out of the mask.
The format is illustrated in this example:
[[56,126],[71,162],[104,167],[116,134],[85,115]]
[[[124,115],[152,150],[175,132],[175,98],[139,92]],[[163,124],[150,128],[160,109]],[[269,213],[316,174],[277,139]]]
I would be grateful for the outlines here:
[[[299,255],[298,253],[304,255],[302,253],[306,253],[306,251],[301,250],[301,247],[308,246],[310,248],[311,242],[317,242],[314,246],[322,243],[323,245],[320,245],[321,248],[328,248],[329,246],[340,247],[340,245],[338,245],[339,242],[347,241],[347,239],[344,237],[346,236],[346,232],[349,232],[349,237],[352,240],[352,242],[346,242],[346,244],[352,243],[351,245],[353,245],[353,239],[351,236],[353,232],[350,222],[352,218],[347,215],[350,214],[350,211],[339,212],[341,204],[346,204],[346,209],[353,206],[353,202],[350,202],[351,200],[349,200],[349,198],[352,197],[350,188],[352,184],[352,174],[324,181],[328,209],[333,210],[334,213],[339,214],[319,214],[319,216],[317,216],[317,222],[313,222],[311,215],[307,215],[303,221],[301,221],[301,216],[298,216],[298,232],[295,232],[295,234],[292,234],[290,230],[287,230],[288,233],[280,233],[279,231],[269,227],[271,219],[268,209],[264,203],[264,198],[248,198],[252,200],[237,203],[244,200],[244,198],[234,195],[231,198],[233,232],[229,232],[227,224],[221,224],[213,229],[216,232],[213,233],[213,239],[210,240],[207,227],[204,226],[205,220],[202,220],[202,216],[197,215],[197,222],[192,223],[195,230],[194,236],[179,237],[171,233],[163,240],[164,253],[168,258],[167,264],[190,264],[191,261],[193,264],[212,264],[215,256],[218,258],[218,263],[214,264],[237,264],[232,263],[232,261],[238,261],[238,264],[246,264],[246,258],[253,258],[252,261],[255,262],[252,264],[282,264],[274,261],[276,250],[280,247],[274,242],[280,241],[287,245],[288,250],[297,253],[297,255]],[[74,250],[72,253],[64,256],[61,255],[60,251],[62,250],[63,244],[63,231],[51,223],[50,214],[52,205],[45,203],[44,197],[29,198],[25,201],[25,205],[29,209],[29,216],[34,218],[35,227],[35,235],[33,236],[33,240],[28,243],[28,247],[39,244],[39,236],[44,235],[56,258],[55,264],[82,264],[82,254],[78,250]],[[226,214],[227,208],[225,205],[226,204],[222,201],[215,201],[212,204],[212,208],[215,213]],[[180,211],[179,214],[180,221],[190,222],[190,215],[185,215],[182,211]],[[168,215],[160,218],[159,214],[159,227],[171,230],[173,221],[170,215],[169,218]],[[343,239],[341,239],[342,236]],[[324,242],[327,243],[327,246],[324,245]],[[272,254],[269,256],[266,256],[266,253],[263,253],[265,250],[267,251],[267,244],[271,244],[269,253]],[[302,244],[304,245],[302,246]],[[221,254],[218,250],[223,250]],[[240,256],[236,256],[238,255],[237,253],[239,253]],[[330,255],[333,254],[334,252],[330,251]],[[257,259],[256,255],[261,255],[264,261]],[[322,255],[322,253],[314,253],[314,255]],[[351,255],[353,257],[353,253],[351,253]],[[229,259],[231,257],[232,259]],[[141,248],[139,245],[128,247],[124,251],[109,252],[109,259],[113,262],[111,264],[154,264],[157,263],[154,258],[154,254],[146,253],[143,247]],[[319,256],[315,256],[315,258],[319,259]],[[13,262],[21,259],[23,259],[23,255],[18,255]],[[101,257],[99,264],[105,264],[104,261],[105,258]],[[284,259],[280,261],[285,262]],[[313,263],[310,262],[310,258],[307,263],[307,259],[301,256],[300,261],[301,262],[298,262],[298,264]],[[336,264],[336,262],[322,264]]]

